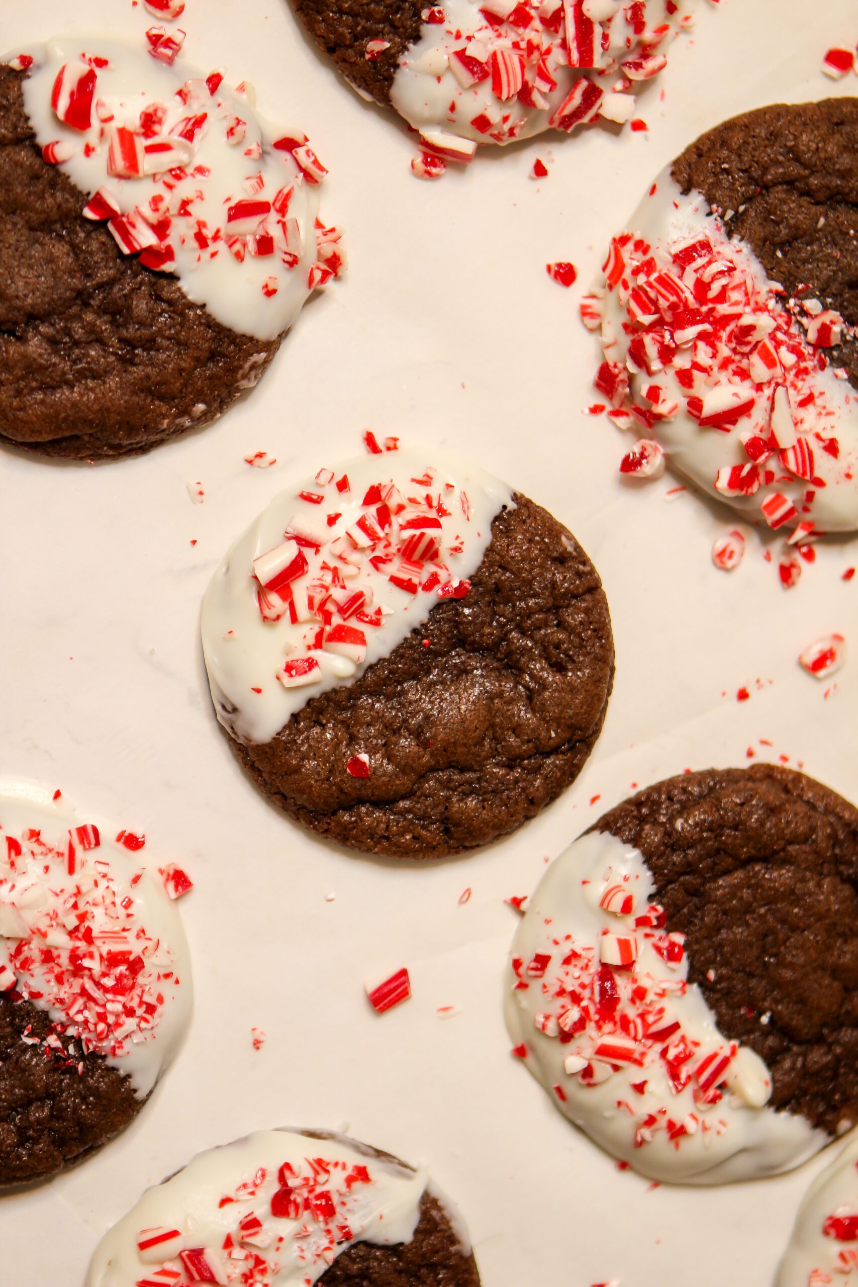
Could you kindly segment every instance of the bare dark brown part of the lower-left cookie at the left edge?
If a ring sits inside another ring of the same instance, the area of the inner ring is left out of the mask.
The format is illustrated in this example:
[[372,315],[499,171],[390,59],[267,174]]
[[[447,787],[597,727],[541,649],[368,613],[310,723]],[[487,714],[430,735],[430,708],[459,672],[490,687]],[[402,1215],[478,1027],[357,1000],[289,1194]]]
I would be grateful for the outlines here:
[[[100,1148],[143,1107],[129,1077],[103,1055],[42,1042],[45,1010],[0,992],[0,1187],[44,1180]],[[27,1044],[24,1037],[36,1039]]]

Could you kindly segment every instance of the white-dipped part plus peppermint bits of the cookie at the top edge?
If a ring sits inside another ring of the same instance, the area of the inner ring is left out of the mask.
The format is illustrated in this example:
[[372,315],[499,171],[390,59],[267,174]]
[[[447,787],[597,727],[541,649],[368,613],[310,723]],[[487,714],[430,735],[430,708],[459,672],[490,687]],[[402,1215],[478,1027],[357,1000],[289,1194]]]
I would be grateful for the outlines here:
[[[430,178],[427,161],[467,165],[481,144],[628,122],[637,86],[664,68],[662,50],[686,19],[679,0],[490,0],[430,8],[423,23],[391,100],[421,135],[412,169]],[[545,176],[540,160],[531,174]]]

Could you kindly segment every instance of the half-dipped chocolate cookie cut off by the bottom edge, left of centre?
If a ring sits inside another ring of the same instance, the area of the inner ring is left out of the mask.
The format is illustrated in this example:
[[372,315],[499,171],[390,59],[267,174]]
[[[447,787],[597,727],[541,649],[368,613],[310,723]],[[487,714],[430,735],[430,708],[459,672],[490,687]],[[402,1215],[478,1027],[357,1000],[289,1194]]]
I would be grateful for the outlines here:
[[[85,1287],[479,1287],[467,1230],[426,1171],[322,1131],[256,1131],[148,1189]],[[172,1277],[170,1277],[172,1274]]]

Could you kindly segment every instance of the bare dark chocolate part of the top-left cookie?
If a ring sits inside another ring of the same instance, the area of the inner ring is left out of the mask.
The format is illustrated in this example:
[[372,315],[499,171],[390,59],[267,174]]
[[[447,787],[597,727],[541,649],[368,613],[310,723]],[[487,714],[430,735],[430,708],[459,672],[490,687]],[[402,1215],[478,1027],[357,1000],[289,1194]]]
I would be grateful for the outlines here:
[[237,335],[123,256],[37,148],[0,66],[0,441],[77,459],[206,425],[279,346]]

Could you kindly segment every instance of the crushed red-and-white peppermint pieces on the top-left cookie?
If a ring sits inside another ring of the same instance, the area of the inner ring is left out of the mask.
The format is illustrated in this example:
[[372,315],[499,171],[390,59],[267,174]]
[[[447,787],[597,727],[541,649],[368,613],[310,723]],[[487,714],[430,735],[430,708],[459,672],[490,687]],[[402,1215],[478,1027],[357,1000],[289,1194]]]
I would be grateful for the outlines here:
[[[180,41],[163,32],[154,39],[152,30],[148,39],[154,58],[174,62]],[[30,54],[22,54],[12,66],[27,71],[32,63]],[[178,270],[179,252],[183,268],[193,269],[219,255],[241,264],[250,255],[293,270],[304,257],[307,239],[314,238],[316,257],[307,270],[307,288],[324,287],[340,275],[345,260],[338,229],[325,228],[319,220],[306,229],[289,212],[296,189],[322,183],[328,172],[306,135],[284,135],[273,142],[271,147],[291,171],[289,181],[275,189],[264,161],[260,165],[262,143],[247,138],[248,121],[235,111],[237,102],[246,102],[250,108],[248,86],[242,84],[234,95],[226,97],[221,93],[223,72],[215,71],[205,80],[187,80],[166,102],[130,109],[99,93],[99,73],[109,67],[107,58],[82,53],[78,60],[59,69],[51,108],[58,121],[80,135],[80,142],[68,138],[49,142],[42,147],[42,157],[51,165],[62,165],[77,153],[103,161],[105,181],[82,214],[105,223],[123,255],[138,255],[145,268],[162,273]],[[201,208],[211,169],[196,160],[201,143],[212,131],[224,148],[235,148],[247,160],[242,189],[224,203],[216,219],[211,219],[210,210]],[[129,208],[125,185],[141,179],[151,179],[154,192],[148,185],[152,194],[141,194]],[[264,297],[270,299],[278,290],[277,275],[265,278]]]

